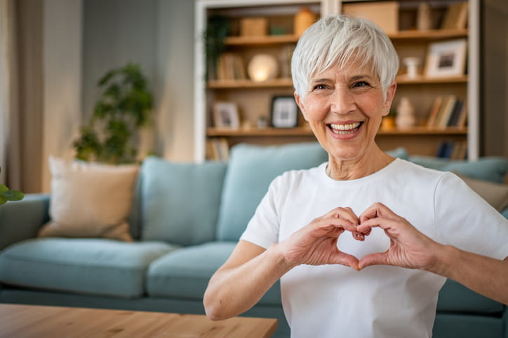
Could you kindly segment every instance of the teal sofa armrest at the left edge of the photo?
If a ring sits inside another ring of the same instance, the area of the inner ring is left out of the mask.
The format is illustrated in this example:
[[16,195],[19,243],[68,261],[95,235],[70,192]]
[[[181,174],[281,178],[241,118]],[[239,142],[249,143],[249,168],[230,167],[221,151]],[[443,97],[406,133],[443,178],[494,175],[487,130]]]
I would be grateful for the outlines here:
[[17,241],[36,237],[49,220],[49,194],[26,194],[21,201],[0,206],[0,250]]

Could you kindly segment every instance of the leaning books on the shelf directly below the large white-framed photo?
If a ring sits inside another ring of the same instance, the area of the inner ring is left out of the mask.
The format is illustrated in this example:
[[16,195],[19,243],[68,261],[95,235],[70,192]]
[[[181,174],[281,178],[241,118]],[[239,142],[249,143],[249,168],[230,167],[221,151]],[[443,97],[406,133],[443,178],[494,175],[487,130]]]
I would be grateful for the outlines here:
[[455,95],[438,96],[432,104],[432,109],[427,120],[427,127],[462,128],[467,122],[467,102],[464,99],[457,99]]

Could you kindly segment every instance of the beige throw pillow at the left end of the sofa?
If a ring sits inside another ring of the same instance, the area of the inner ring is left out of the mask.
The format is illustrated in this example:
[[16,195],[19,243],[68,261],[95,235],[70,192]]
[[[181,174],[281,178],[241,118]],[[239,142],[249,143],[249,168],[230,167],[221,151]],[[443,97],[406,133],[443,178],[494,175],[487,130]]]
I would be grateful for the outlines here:
[[102,237],[133,241],[127,222],[137,165],[107,165],[50,157],[51,220],[40,237]]

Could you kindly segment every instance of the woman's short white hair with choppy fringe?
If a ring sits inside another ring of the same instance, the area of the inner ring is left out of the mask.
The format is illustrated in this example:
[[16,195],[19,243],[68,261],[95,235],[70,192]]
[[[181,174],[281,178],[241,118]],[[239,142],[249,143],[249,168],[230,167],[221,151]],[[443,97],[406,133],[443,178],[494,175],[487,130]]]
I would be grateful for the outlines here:
[[352,62],[372,66],[386,97],[399,70],[399,57],[387,34],[368,20],[346,15],[322,17],[304,32],[293,52],[291,75],[296,94],[307,95],[312,76]]

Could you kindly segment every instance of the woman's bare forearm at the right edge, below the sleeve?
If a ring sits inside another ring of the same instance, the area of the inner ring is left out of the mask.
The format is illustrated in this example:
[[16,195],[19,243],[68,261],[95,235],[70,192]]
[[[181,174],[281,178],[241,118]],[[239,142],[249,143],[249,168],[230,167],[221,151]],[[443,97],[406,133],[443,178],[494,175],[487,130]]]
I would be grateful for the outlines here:
[[476,293],[508,304],[508,260],[443,246],[432,272],[461,283]]

